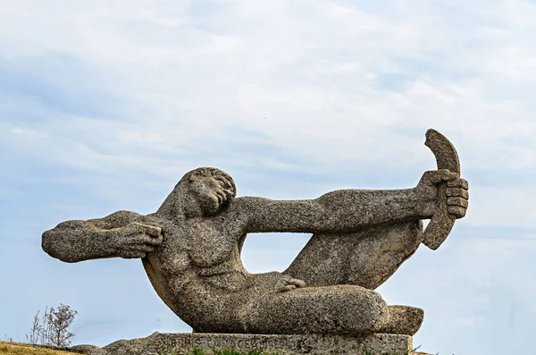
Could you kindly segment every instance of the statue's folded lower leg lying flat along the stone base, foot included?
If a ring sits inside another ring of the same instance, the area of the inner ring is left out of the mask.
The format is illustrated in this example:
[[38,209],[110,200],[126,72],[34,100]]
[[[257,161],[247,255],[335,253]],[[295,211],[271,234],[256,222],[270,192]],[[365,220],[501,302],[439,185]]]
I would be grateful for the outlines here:
[[378,292],[355,285],[305,287],[255,297],[242,315],[252,334],[408,334],[423,322],[421,309],[389,307]]

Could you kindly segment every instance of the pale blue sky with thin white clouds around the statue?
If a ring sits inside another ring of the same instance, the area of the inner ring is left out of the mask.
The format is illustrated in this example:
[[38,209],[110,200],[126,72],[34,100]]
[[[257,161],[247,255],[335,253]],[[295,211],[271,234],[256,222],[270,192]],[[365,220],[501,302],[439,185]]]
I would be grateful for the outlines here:
[[[415,345],[527,353],[536,329],[536,1],[0,0],[0,339],[68,304],[73,343],[190,332],[139,260],[66,264],[41,233],[154,212],[198,166],[239,196],[415,186],[457,148],[467,216],[378,289]],[[250,272],[309,235],[248,236]]]

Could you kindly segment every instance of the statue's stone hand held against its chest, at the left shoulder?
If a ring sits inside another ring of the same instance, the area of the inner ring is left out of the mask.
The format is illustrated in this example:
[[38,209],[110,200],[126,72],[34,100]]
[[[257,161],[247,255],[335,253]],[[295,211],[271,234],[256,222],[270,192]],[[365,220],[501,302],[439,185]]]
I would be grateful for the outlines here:
[[110,232],[115,254],[121,258],[145,258],[162,245],[162,228],[154,225],[133,222]]

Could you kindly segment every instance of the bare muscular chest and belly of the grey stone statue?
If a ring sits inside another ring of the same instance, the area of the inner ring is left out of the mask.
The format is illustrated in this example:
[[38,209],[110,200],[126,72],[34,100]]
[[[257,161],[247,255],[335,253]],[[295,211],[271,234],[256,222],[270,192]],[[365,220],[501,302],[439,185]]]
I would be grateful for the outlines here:
[[167,298],[175,299],[200,289],[236,292],[246,287],[247,271],[240,259],[246,233],[229,213],[181,222],[147,218],[163,227],[163,245],[144,258],[151,282],[159,284],[157,292],[162,289]]

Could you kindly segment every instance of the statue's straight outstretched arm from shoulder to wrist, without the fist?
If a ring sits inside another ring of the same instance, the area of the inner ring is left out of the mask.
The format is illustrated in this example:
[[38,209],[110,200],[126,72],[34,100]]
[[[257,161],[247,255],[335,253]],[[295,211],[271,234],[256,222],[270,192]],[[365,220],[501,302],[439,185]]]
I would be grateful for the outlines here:
[[430,218],[435,207],[415,189],[335,190],[308,200],[242,199],[247,232],[353,232]]

